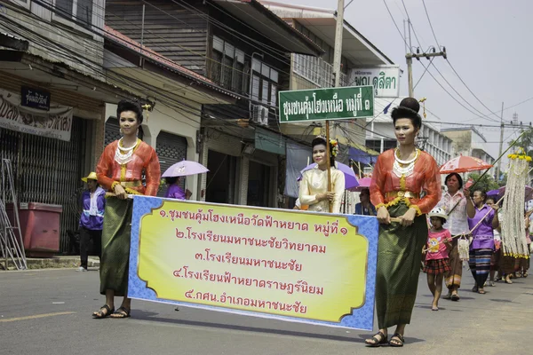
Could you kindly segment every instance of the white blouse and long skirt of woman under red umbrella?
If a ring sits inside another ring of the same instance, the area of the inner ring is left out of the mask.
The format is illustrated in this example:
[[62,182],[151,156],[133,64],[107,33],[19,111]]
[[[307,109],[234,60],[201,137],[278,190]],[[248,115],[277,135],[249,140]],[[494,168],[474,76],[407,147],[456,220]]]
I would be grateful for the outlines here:
[[[466,198],[461,191],[457,191],[453,196],[449,193],[442,195],[442,200],[439,201],[437,207],[441,207],[448,215],[444,228],[449,230],[449,233],[454,237],[452,240],[452,248],[449,252],[449,267],[450,271],[446,274],[446,287],[451,289],[453,287],[461,287],[461,277],[463,276],[463,261],[459,257],[457,249],[457,235],[470,234],[468,228],[468,221],[466,216]],[[453,209],[453,210],[452,210]]]

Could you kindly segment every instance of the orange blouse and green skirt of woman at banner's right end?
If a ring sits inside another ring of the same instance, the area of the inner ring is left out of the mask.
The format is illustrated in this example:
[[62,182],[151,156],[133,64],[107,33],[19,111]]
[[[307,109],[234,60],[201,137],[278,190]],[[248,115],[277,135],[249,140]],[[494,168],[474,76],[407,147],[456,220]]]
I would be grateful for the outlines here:
[[413,159],[402,161],[396,151],[378,156],[370,200],[376,209],[385,206],[390,217],[402,217],[410,208],[417,210],[417,217],[409,227],[397,222],[379,225],[376,309],[380,329],[410,323],[427,241],[425,215],[441,198],[441,177],[434,158],[417,149]]

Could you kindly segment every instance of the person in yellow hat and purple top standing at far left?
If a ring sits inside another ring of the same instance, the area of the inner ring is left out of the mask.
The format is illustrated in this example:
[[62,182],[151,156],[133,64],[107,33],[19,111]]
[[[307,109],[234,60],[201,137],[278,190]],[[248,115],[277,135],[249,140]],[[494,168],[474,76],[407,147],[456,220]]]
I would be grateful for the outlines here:
[[82,217],[80,217],[80,267],[78,271],[87,271],[89,258],[89,241],[93,242],[96,254],[101,256],[102,228],[104,225],[104,209],[106,207],[106,192],[99,187],[96,173],[83,177],[87,190],[82,193]]

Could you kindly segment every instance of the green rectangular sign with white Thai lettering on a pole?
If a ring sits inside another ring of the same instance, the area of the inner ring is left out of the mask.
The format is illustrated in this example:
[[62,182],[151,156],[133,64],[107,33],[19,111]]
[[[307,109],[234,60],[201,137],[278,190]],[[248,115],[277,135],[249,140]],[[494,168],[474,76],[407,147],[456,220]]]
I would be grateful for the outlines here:
[[280,91],[279,103],[281,123],[373,117],[374,87]]

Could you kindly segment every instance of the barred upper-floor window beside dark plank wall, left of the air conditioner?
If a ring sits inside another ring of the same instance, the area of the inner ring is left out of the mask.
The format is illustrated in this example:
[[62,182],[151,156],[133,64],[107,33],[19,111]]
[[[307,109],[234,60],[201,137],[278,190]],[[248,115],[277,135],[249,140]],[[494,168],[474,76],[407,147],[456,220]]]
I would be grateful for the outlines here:
[[211,80],[220,86],[245,93],[247,75],[244,75],[244,52],[223,39],[213,36]]

